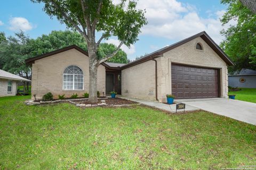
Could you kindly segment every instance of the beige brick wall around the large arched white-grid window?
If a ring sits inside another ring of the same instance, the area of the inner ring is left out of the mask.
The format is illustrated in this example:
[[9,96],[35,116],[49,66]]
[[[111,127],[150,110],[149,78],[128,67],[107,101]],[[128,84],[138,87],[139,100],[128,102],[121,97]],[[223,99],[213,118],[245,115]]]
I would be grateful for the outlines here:
[[[70,65],[79,66],[84,73],[84,90],[63,90],[63,72]],[[105,66],[98,68],[98,91],[105,92]],[[36,94],[41,99],[44,94],[51,92],[54,98],[65,94],[70,97],[73,93],[82,97],[84,92],[89,93],[89,57],[76,49],[70,49],[62,53],[36,60],[32,65],[31,98]]]

